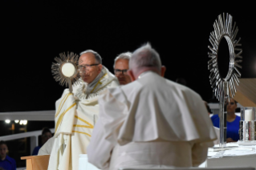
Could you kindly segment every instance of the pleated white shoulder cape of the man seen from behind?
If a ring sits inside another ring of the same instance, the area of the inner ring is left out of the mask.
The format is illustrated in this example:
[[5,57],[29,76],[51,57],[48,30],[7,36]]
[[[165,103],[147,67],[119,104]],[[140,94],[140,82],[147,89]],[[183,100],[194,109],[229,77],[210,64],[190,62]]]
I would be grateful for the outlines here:
[[[113,103],[112,98],[118,103]],[[105,121],[107,136],[116,128],[109,118],[116,119],[117,112],[123,113],[118,115],[125,119],[118,136],[121,145],[156,139],[208,141],[216,138],[201,97],[189,88],[152,72],[127,86],[109,89],[102,101],[104,108],[100,114]],[[112,107],[116,107],[115,113],[110,110]]]

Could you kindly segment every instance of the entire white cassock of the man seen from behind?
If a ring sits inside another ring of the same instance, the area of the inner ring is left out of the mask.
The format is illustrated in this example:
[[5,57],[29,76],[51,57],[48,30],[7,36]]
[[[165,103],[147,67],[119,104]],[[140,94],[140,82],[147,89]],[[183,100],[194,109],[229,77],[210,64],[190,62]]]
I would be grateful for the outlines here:
[[98,168],[198,166],[217,136],[196,92],[152,71],[99,98],[88,160]]

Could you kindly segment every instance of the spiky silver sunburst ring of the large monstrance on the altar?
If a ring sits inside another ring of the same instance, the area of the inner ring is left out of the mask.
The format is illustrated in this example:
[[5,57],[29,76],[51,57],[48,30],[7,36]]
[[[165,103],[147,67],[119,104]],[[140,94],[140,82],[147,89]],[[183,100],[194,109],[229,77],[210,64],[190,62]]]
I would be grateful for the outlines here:
[[[221,14],[218,15],[213,23],[213,28],[214,30],[209,35],[209,42],[212,47],[208,46],[211,51],[208,53],[209,58],[211,58],[208,62],[208,70],[210,71],[209,82],[217,99],[221,100],[224,91],[226,91],[228,96],[231,95],[232,97],[234,97],[237,91],[236,86],[238,86],[239,83],[238,78],[241,77],[238,68],[242,68],[242,66],[238,64],[242,63],[242,48],[237,47],[242,46],[242,44],[239,43],[241,38],[235,40],[238,34],[238,26],[236,26],[236,22],[234,22],[233,26],[233,17],[230,14],[226,14],[226,18],[224,13],[223,18]],[[217,67],[217,51],[223,37],[226,38],[230,49],[230,68],[224,79],[221,78]],[[237,54],[235,51],[237,51]],[[226,86],[224,86],[224,82]]]

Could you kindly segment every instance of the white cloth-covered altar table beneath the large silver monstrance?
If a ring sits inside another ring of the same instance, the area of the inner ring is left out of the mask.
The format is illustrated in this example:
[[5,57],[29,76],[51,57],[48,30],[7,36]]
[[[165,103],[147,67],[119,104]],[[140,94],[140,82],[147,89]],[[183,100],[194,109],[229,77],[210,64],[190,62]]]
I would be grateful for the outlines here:
[[[222,157],[218,157],[221,155]],[[205,167],[254,167],[256,168],[256,146],[239,146],[232,150],[208,152]]]

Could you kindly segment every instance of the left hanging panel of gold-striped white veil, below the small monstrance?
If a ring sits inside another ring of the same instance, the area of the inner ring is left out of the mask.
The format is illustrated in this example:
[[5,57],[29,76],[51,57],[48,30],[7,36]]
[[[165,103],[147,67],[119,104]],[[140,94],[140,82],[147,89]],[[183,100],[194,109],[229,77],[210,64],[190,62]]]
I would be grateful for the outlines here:
[[72,169],[71,136],[75,121],[75,108],[74,95],[68,90],[64,91],[62,98],[56,102],[55,142],[48,169]]

